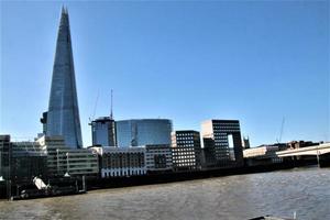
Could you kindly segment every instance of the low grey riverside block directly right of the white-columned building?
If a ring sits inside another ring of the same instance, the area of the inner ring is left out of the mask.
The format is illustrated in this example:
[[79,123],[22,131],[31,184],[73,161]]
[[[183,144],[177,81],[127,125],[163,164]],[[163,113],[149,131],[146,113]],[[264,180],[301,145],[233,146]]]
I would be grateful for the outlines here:
[[146,172],[160,173],[173,169],[172,148],[167,144],[145,145]]

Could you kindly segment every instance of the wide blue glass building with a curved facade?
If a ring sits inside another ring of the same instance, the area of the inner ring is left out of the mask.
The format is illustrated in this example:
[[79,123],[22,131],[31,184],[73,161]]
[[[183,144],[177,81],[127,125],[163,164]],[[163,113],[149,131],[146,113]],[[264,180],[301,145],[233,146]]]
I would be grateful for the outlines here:
[[168,119],[133,119],[116,122],[119,147],[170,145],[172,121]]

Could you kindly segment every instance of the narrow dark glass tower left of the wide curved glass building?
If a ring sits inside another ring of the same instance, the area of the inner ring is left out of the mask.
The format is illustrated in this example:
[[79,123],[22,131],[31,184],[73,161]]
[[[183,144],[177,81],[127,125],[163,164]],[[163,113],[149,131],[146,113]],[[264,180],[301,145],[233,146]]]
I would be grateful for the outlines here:
[[117,146],[116,123],[110,117],[98,118],[90,122],[92,145]]

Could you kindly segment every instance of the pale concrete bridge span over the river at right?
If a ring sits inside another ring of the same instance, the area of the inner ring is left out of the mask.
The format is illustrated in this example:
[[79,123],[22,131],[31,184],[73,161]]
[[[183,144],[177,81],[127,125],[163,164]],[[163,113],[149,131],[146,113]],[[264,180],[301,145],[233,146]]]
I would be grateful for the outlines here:
[[306,146],[295,150],[278,151],[275,153],[278,157],[287,156],[321,156],[324,154],[330,154],[330,143],[324,143],[315,146]]

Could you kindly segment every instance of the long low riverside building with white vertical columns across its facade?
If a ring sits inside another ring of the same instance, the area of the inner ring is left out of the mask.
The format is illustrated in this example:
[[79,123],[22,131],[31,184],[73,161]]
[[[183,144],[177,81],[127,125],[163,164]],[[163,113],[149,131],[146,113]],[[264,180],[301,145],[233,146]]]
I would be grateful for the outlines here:
[[91,147],[100,155],[102,178],[141,176],[146,174],[145,147]]

